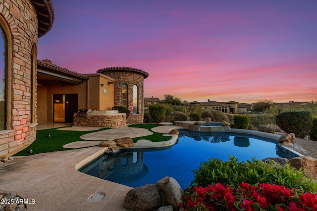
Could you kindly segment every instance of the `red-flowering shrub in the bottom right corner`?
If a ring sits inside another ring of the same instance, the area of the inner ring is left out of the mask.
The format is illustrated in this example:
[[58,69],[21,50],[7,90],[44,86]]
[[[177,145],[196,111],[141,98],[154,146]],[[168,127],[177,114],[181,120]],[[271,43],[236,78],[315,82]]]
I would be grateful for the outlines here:
[[315,211],[317,194],[265,183],[242,182],[238,187],[217,183],[185,191],[179,206],[186,211]]

